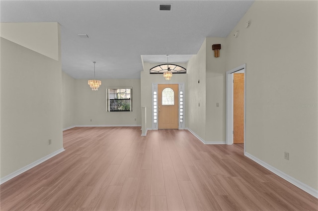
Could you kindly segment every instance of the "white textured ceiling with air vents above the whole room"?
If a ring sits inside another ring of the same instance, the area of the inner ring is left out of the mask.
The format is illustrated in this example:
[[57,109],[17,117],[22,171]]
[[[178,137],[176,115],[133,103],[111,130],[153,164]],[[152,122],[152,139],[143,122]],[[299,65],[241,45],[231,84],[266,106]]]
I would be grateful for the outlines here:
[[[142,58],[187,62],[226,37],[252,0],[1,0],[1,22],[59,22],[62,70],[77,79],[140,78]],[[159,4],[172,4],[159,11]],[[81,38],[78,34],[87,34]]]

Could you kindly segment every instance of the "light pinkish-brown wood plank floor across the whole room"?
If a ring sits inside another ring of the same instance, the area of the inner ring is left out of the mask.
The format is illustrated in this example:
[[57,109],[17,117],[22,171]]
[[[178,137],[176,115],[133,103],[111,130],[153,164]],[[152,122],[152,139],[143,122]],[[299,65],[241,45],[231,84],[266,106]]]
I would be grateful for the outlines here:
[[77,127],[66,151],[3,183],[1,211],[318,210],[318,199],[187,130]]

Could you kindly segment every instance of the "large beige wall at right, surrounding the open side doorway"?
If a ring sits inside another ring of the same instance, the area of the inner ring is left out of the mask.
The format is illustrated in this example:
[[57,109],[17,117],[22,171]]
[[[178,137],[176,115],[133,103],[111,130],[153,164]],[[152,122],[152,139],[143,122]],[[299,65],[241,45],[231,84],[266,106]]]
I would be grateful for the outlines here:
[[246,153],[316,190],[317,4],[255,1],[227,38],[227,70],[246,63]]

